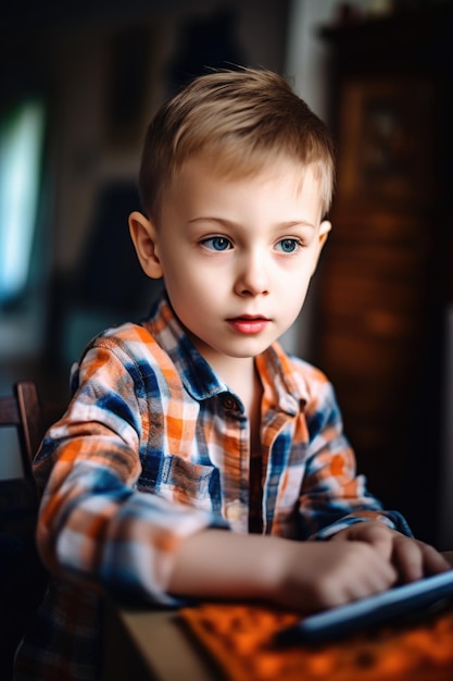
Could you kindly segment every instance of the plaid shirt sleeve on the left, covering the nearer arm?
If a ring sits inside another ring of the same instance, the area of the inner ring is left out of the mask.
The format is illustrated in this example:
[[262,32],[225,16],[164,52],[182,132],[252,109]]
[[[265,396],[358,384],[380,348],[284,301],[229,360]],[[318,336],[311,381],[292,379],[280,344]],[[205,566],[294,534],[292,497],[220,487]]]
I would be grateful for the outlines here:
[[53,573],[116,597],[171,605],[167,583],[180,542],[227,525],[136,488],[140,437],[150,428],[138,374],[117,348],[100,344],[86,354],[68,410],[35,460],[43,487],[37,536]]

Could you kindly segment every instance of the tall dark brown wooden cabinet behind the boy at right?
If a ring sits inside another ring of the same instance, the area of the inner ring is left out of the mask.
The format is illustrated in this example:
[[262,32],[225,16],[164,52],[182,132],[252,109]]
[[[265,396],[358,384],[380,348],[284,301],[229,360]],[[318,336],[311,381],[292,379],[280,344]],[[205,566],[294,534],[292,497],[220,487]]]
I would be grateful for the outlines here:
[[338,182],[315,361],[370,490],[431,542],[452,288],[452,9],[322,30]]

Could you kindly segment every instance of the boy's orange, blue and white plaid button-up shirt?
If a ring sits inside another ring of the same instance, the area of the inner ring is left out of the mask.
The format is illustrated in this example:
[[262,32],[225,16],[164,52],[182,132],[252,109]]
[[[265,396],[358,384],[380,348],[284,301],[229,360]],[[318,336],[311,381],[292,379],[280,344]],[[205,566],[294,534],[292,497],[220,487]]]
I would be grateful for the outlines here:
[[[364,519],[410,530],[356,475],[331,385],[274,344],[263,385],[263,533],[325,538]],[[101,596],[177,605],[172,555],[203,528],[248,532],[249,421],[164,296],[141,325],[109,330],[73,374],[74,398],[35,462],[38,543],[53,577],[16,679],[99,679]]]

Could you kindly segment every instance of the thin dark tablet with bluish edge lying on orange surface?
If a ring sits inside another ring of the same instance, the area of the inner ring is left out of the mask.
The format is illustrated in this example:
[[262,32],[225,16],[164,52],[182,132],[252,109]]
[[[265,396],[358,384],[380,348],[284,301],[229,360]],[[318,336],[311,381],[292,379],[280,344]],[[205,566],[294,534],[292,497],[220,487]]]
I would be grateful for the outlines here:
[[453,570],[304,617],[279,631],[276,643],[327,643],[402,616],[427,614],[450,599],[453,599]]

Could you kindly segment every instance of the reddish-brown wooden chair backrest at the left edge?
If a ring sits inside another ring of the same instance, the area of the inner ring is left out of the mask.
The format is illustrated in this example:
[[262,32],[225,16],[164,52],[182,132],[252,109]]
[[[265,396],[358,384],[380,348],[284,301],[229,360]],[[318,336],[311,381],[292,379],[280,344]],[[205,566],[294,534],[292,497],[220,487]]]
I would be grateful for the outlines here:
[[0,426],[16,428],[24,478],[34,480],[32,462],[46,431],[36,383],[18,381],[11,395],[0,397]]

